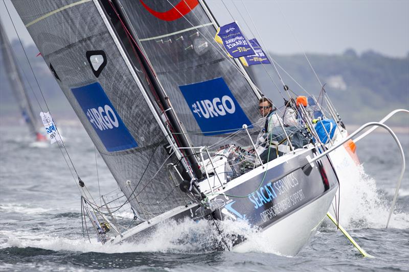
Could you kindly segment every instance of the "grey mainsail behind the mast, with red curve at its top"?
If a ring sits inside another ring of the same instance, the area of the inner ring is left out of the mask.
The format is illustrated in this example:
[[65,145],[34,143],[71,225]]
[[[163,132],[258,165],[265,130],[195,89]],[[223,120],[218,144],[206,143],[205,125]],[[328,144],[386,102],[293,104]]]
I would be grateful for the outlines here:
[[[193,145],[212,145],[240,130],[244,123],[257,121],[257,96],[239,67],[214,41],[215,22],[201,2],[113,2],[146,54]],[[232,143],[239,143],[240,138],[242,135],[233,137]]]

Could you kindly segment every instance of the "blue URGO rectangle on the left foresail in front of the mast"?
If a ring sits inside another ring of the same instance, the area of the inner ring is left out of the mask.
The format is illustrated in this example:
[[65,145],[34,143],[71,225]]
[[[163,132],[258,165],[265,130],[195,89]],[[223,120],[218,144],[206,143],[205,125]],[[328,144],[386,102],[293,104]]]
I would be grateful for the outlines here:
[[107,151],[115,152],[138,146],[98,82],[73,88],[71,91]]

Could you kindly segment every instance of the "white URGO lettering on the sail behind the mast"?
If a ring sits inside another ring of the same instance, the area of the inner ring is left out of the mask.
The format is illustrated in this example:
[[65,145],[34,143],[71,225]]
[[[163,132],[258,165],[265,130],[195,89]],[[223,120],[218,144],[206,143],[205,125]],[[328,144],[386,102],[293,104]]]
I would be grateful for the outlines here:
[[196,101],[192,105],[193,112],[198,115],[198,117],[213,118],[217,116],[224,116],[227,113],[233,114],[236,112],[236,106],[234,105],[233,99],[229,95],[224,95],[221,97],[213,98],[213,101],[208,99]]

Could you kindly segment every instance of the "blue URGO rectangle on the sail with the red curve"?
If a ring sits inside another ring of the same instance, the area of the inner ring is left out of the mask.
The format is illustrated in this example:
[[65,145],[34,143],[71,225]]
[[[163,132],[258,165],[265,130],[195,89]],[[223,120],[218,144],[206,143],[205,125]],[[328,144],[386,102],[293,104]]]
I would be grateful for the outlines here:
[[223,78],[179,86],[203,135],[240,130],[252,123],[237,103]]

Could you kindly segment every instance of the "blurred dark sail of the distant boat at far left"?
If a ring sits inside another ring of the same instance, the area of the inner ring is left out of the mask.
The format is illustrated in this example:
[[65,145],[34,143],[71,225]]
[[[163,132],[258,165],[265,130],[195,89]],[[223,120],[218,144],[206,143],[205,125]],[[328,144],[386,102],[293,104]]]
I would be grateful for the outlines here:
[[4,30],[3,24],[0,22],[0,44],[2,47],[2,55],[4,60],[4,68],[9,79],[12,92],[16,97],[18,106],[20,108],[21,114],[29,127],[30,134],[34,137],[38,137],[38,131],[36,125],[39,120],[35,118],[33,108],[30,103],[30,98],[27,93],[26,86],[24,85],[24,80],[21,77],[21,73],[18,69],[17,61],[13,50],[11,48],[10,42],[7,38],[6,32]]

